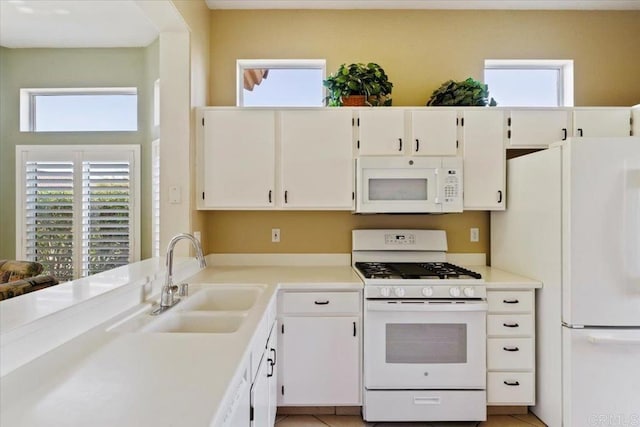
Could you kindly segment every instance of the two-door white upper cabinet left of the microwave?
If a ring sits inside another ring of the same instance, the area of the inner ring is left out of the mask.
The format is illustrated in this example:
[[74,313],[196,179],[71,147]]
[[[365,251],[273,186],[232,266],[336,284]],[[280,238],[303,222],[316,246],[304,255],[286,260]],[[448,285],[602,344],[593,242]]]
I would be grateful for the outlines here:
[[350,110],[204,109],[201,123],[199,208],[353,209]]

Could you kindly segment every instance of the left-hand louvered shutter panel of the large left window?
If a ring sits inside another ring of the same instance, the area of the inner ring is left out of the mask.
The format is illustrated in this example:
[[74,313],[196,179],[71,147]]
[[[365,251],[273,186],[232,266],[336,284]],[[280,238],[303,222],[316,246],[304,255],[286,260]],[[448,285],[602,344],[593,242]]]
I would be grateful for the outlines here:
[[27,161],[24,252],[63,282],[73,279],[73,161]]

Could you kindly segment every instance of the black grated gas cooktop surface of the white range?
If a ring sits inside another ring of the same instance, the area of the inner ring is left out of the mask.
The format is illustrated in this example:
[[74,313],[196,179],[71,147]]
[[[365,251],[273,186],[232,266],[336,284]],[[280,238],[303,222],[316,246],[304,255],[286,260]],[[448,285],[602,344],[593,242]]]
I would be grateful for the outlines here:
[[482,279],[480,273],[448,262],[356,262],[355,267],[365,279]]

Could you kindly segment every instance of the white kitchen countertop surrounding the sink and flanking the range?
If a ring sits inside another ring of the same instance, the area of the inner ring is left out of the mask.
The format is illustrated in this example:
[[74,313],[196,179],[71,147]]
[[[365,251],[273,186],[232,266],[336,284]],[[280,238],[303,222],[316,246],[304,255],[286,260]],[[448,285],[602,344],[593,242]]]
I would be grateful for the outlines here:
[[[490,267],[470,268],[483,275],[488,289],[541,286]],[[108,332],[132,313],[148,312],[150,304],[131,308],[2,377],[0,425],[208,426],[278,288],[362,287],[348,265],[213,266],[186,281],[193,289],[198,283],[262,283],[268,291],[231,334]]]

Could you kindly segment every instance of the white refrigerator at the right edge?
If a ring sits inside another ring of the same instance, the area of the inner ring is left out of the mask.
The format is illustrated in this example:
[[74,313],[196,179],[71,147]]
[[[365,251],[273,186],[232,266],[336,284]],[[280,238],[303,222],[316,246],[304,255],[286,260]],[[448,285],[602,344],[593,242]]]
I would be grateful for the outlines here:
[[640,138],[573,138],[507,162],[491,264],[536,293],[550,427],[640,426]]

